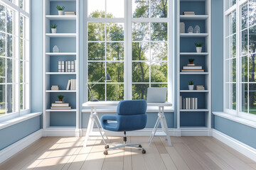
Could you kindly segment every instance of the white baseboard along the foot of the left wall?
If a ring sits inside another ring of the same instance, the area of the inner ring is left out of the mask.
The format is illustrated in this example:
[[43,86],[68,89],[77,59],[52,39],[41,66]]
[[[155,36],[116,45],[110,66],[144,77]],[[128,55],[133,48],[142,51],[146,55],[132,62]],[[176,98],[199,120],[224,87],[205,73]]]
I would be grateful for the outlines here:
[[14,154],[20,152],[25,147],[28,147],[28,145],[31,145],[33,142],[36,142],[36,140],[40,139],[42,137],[42,130],[38,130],[36,132],[33,132],[31,135],[28,135],[27,137],[24,137],[21,140],[18,140],[18,142],[15,142],[13,145],[10,145],[9,147],[6,147],[0,151],[0,164],[6,159],[9,159],[10,157],[14,156]]

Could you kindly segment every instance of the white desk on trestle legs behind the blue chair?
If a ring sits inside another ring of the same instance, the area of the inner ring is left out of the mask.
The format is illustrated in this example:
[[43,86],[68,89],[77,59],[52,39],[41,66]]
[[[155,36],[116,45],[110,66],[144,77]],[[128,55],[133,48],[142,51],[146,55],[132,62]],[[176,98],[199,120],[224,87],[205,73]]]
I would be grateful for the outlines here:
[[[107,135],[105,134],[105,131],[103,130],[102,126],[100,125],[100,119],[97,116],[97,107],[108,107],[108,106],[117,106],[119,101],[87,101],[85,103],[82,103],[82,106],[89,106],[91,108],[90,111],[90,119],[89,123],[87,125],[87,131],[85,135],[85,143],[84,146],[87,145],[87,140],[90,136],[95,135],[95,133],[92,132],[93,125],[96,123],[97,128],[100,132],[100,136],[102,137],[103,142],[105,145],[107,144],[105,142],[105,138],[107,138]],[[154,125],[154,129],[151,132],[151,135],[149,137],[149,146],[151,145],[151,142],[154,138],[154,136],[165,136],[166,140],[168,140],[169,146],[171,146],[171,138],[169,135],[166,118],[164,116],[164,106],[172,106],[171,103],[165,102],[165,103],[147,103],[147,106],[158,106],[159,107],[159,113],[158,118],[156,120],[156,124]],[[156,130],[159,127],[159,123],[161,124],[161,132],[156,132]]]

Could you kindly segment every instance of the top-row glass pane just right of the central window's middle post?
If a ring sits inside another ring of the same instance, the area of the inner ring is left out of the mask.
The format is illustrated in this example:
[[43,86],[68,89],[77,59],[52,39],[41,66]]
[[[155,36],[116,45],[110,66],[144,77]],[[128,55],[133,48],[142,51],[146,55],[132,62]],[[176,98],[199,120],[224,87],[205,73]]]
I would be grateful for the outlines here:
[[149,0],[132,0],[132,16],[149,18]]

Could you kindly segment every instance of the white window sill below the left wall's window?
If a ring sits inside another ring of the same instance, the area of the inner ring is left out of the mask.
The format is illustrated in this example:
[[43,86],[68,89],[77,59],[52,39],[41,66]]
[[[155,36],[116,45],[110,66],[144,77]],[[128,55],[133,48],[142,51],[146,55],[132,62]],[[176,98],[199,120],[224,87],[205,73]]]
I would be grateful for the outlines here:
[[4,128],[7,128],[11,125],[15,125],[17,123],[21,123],[25,120],[28,120],[28,119],[31,119],[31,118],[35,118],[36,116],[38,115],[41,115],[42,113],[41,112],[38,112],[38,113],[29,113],[29,114],[26,114],[26,115],[22,115],[22,116],[19,116],[17,118],[13,118],[11,120],[7,120],[5,122],[1,122],[0,123],[0,130],[1,129],[4,129]]

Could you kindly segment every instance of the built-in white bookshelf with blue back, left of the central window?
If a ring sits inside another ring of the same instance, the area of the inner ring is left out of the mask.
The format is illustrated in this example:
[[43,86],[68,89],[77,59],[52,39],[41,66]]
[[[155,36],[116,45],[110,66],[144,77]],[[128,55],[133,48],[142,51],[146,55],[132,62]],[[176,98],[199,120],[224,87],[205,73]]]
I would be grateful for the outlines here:
[[[58,16],[55,6],[65,6],[64,11],[74,11],[75,16]],[[79,0],[43,0],[43,132],[58,135],[59,130],[68,130],[65,135],[80,135],[79,132]],[[52,33],[51,24],[57,24],[57,33]],[[53,52],[57,45],[59,52]],[[58,72],[58,61],[75,61],[75,72]],[[75,90],[67,90],[69,79],[76,79]],[[51,90],[59,86],[59,90]],[[71,109],[53,110],[51,103],[70,103]],[[48,133],[51,132],[51,133]],[[54,133],[55,132],[55,133]],[[60,134],[63,135],[63,134]]]

